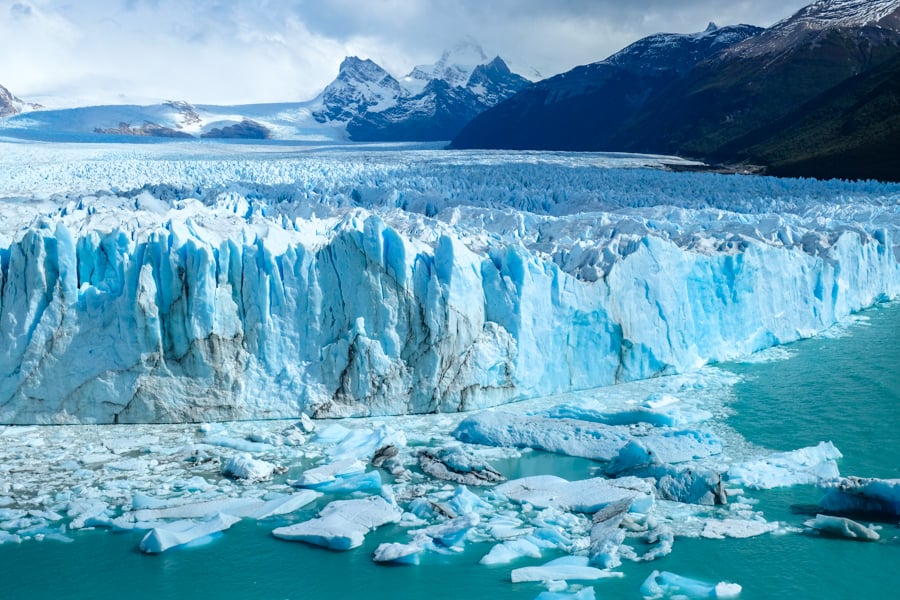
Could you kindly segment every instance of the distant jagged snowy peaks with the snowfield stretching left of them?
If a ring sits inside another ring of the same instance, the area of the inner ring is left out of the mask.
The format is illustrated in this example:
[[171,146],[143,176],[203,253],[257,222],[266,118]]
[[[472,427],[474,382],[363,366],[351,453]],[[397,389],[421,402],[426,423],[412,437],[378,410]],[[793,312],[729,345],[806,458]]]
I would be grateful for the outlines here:
[[[466,41],[433,65],[398,80],[369,59],[347,57],[338,75],[307,102],[244,106],[165,102],[42,111],[0,123],[4,135],[34,139],[119,137],[437,141],[452,139],[473,117],[530,82],[500,57]],[[5,92],[5,90],[3,90]],[[10,94],[0,115],[15,115]],[[5,108],[9,104],[13,108]],[[6,111],[6,112],[2,112]]]

